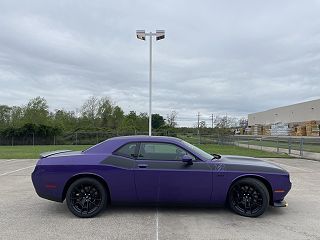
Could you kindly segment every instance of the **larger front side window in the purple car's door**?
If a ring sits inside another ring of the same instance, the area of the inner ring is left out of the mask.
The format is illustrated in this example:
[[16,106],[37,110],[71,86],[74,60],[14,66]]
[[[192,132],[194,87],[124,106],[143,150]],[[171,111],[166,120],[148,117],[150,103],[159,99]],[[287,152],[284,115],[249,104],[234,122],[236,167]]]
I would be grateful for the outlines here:
[[140,160],[182,160],[184,155],[190,155],[193,160],[195,157],[188,154],[184,149],[170,143],[141,143],[138,159]]

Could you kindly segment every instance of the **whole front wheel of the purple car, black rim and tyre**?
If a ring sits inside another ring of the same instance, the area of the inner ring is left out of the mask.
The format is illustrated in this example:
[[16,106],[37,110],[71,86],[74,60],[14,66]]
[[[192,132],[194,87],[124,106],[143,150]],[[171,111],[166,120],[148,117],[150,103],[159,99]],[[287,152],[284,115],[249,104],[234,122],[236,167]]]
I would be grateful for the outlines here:
[[228,194],[231,209],[245,217],[258,217],[269,205],[266,186],[254,178],[243,178],[232,184]]

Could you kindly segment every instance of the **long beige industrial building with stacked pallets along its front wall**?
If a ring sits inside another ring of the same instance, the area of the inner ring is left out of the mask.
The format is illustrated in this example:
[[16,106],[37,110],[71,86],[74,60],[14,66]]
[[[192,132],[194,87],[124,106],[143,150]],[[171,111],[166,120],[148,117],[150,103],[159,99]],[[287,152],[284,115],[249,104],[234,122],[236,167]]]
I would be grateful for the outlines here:
[[319,136],[320,99],[248,115],[247,134]]

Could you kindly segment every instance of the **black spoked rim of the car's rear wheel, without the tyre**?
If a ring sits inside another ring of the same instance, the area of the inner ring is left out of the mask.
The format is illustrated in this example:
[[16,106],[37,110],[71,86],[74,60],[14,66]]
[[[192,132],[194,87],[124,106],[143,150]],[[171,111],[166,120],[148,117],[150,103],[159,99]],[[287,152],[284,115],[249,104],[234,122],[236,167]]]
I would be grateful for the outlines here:
[[96,211],[102,202],[101,193],[92,183],[80,183],[76,185],[70,196],[72,208],[83,215]]

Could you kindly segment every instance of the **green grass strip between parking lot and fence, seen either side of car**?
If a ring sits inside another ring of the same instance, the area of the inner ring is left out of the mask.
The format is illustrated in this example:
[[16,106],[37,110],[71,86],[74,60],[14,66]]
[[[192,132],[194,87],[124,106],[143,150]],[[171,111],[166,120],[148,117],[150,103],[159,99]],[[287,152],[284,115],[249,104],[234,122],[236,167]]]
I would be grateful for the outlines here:
[[[222,155],[240,155],[261,158],[289,157],[287,154],[277,154],[229,145],[201,144],[197,146],[208,153]],[[88,147],[90,147],[90,145],[0,146],[0,159],[36,159],[39,158],[39,155],[42,152],[65,149],[81,151]]]

